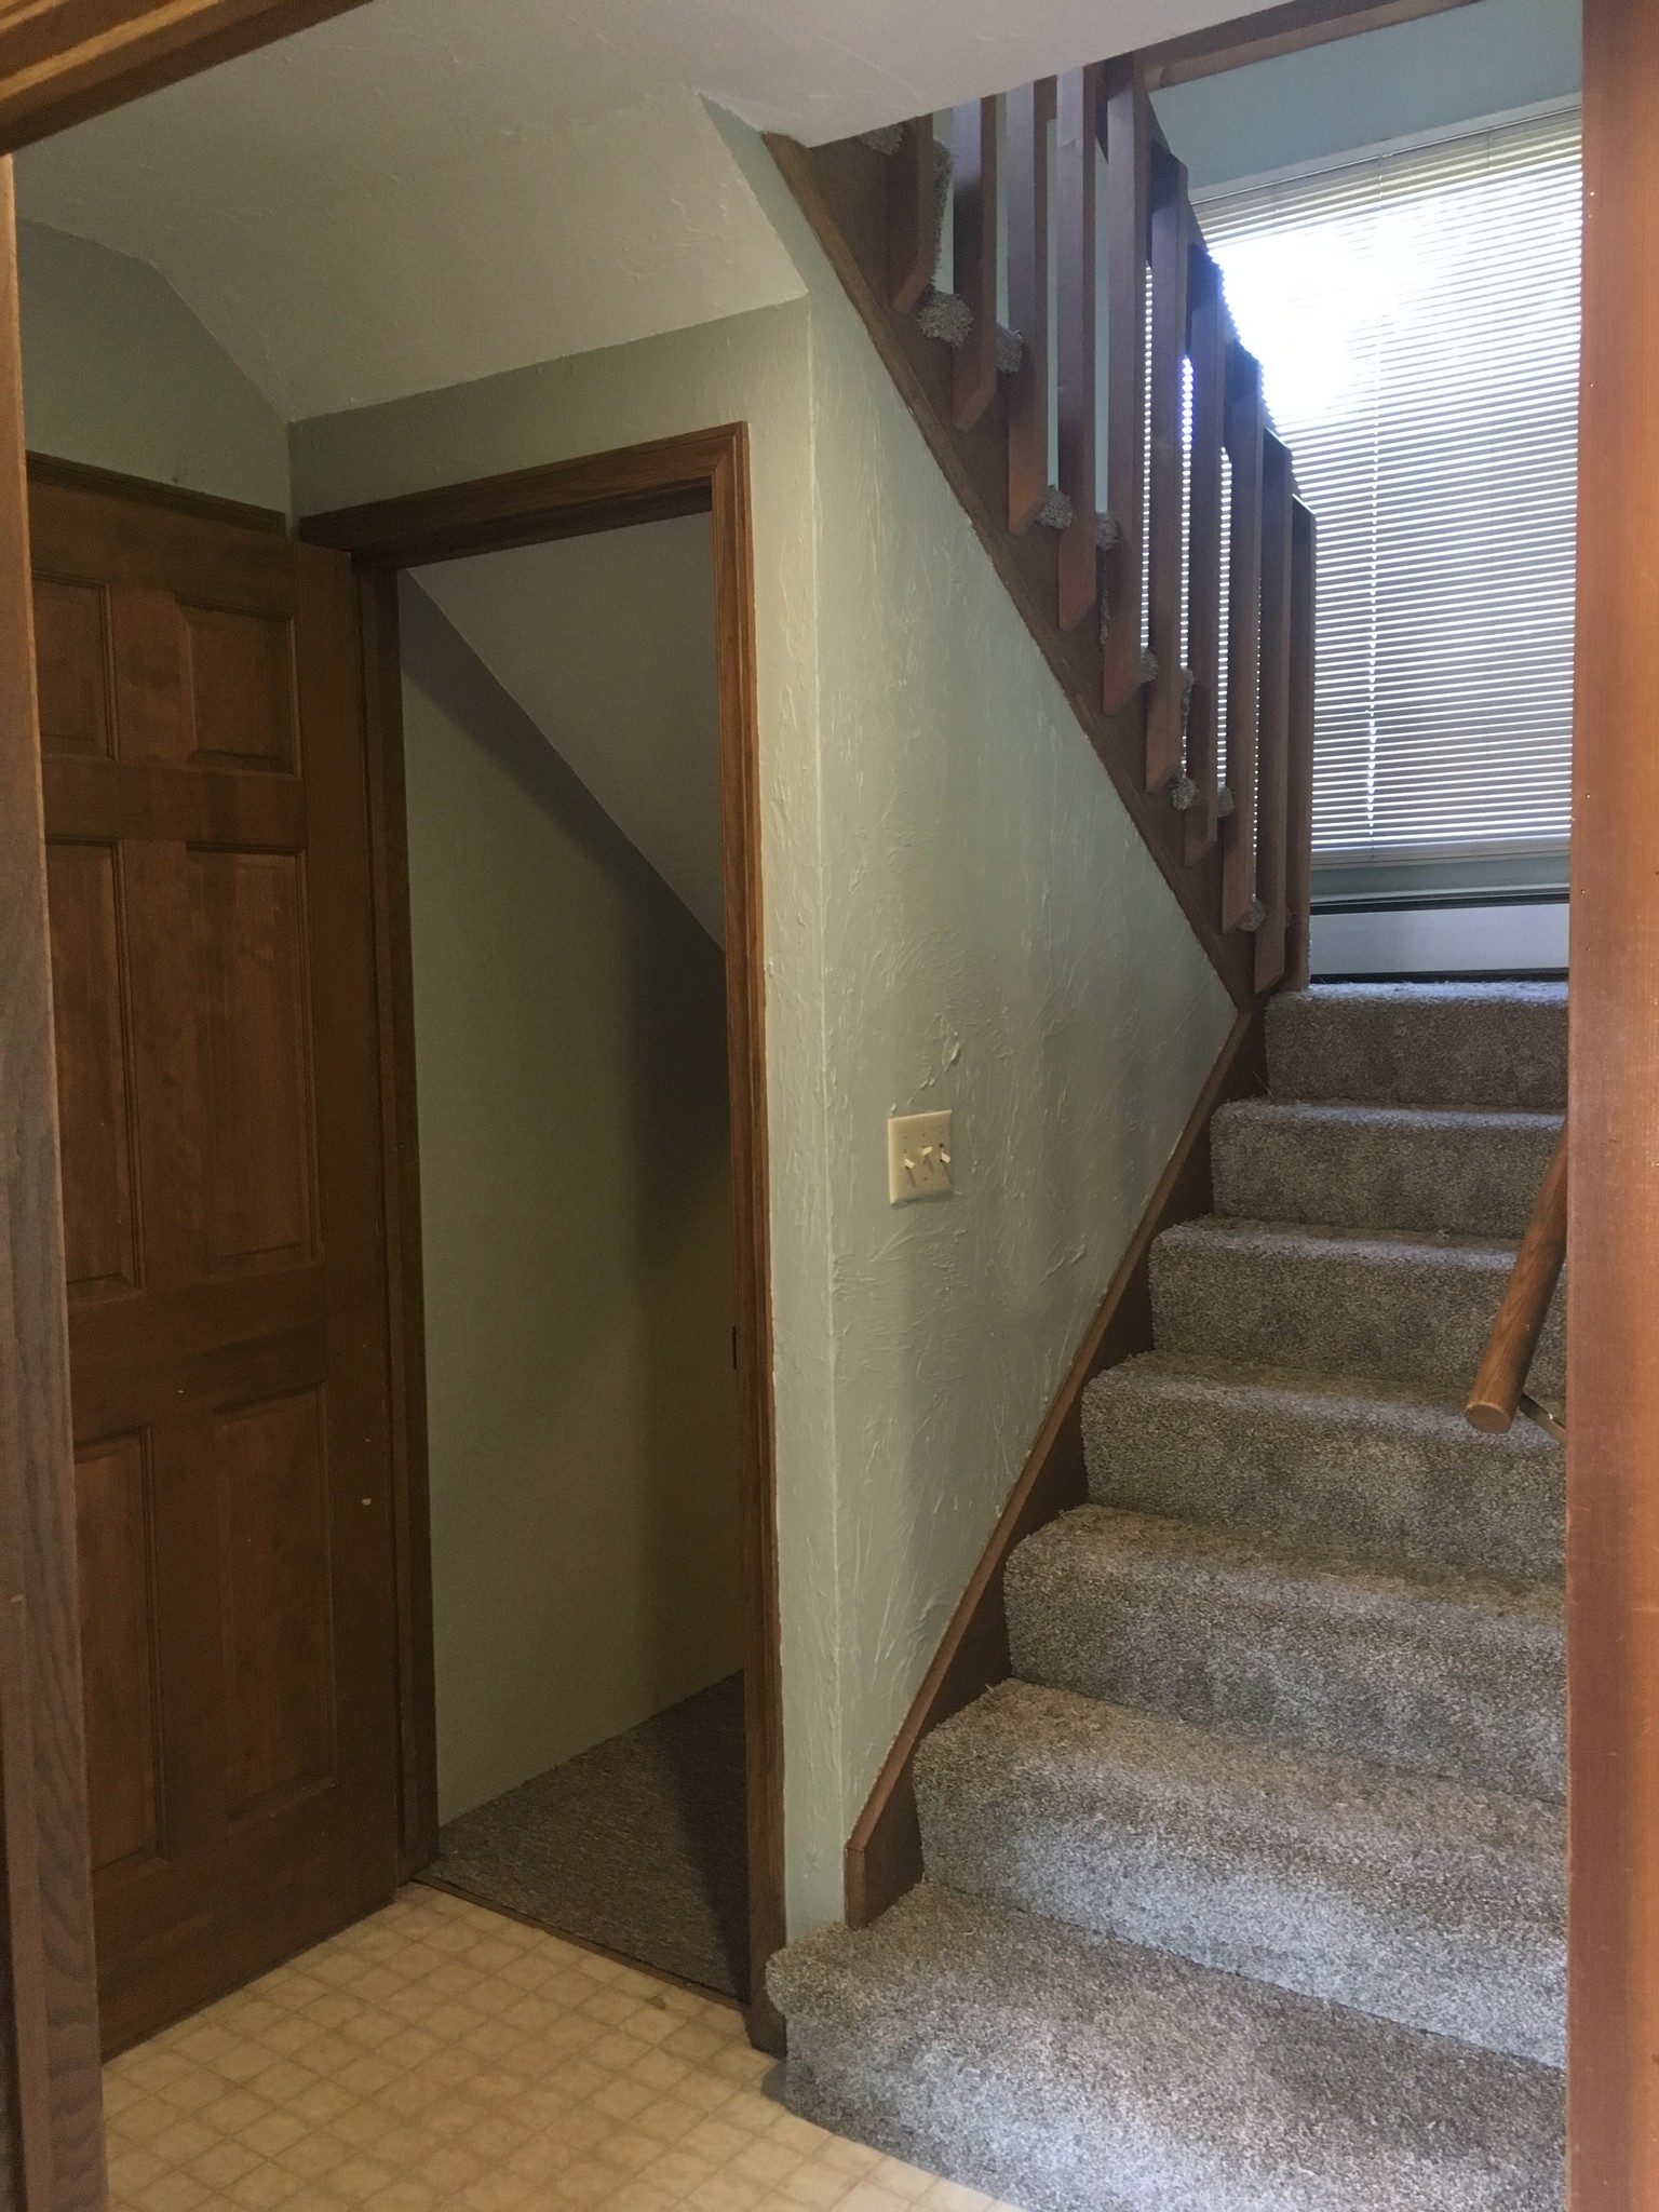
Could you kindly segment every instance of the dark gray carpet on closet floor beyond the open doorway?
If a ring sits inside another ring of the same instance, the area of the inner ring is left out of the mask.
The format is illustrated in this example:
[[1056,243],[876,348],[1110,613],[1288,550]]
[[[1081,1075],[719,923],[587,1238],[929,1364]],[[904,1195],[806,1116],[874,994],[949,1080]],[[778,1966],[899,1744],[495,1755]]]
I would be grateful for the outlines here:
[[451,1820],[427,1880],[748,2002],[743,1679]]

